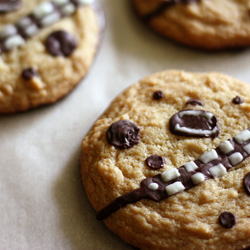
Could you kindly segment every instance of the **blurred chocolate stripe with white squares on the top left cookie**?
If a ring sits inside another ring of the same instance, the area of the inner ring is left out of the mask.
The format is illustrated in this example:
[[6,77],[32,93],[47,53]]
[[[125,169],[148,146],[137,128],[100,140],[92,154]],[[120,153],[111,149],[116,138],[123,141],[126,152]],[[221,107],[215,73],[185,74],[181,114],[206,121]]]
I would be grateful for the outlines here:
[[31,14],[16,24],[8,24],[0,31],[0,54],[18,47],[39,30],[54,24],[63,17],[75,13],[76,9],[90,0],[53,0],[40,3]]

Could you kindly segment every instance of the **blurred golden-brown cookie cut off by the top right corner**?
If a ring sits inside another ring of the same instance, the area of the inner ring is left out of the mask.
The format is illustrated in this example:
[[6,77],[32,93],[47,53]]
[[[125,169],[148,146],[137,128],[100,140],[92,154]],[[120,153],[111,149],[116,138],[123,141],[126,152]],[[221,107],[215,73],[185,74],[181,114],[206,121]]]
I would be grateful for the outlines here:
[[248,0],[132,0],[142,20],[179,43],[218,50],[250,45]]

